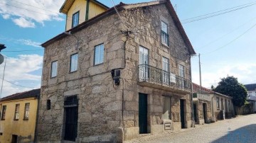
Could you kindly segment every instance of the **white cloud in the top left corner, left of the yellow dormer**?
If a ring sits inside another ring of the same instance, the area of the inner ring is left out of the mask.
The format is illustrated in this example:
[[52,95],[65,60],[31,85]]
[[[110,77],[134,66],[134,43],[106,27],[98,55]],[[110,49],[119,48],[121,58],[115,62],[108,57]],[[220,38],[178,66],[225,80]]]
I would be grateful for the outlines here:
[[0,15],[12,18],[21,28],[34,28],[36,23],[45,21],[63,21],[58,12],[64,0],[1,0]]

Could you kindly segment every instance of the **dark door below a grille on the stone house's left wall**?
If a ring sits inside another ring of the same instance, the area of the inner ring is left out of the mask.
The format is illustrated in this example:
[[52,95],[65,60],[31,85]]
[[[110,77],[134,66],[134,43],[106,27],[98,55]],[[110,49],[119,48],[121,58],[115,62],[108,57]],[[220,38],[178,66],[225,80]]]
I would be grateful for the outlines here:
[[78,107],[65,108],[65,140],[74,141],[78,131]]

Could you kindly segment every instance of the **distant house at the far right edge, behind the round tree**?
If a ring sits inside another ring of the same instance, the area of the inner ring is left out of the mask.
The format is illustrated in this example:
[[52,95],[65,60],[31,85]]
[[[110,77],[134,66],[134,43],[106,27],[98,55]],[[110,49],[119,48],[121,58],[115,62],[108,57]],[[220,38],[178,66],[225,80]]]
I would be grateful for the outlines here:
[[254,112],[256,113],[256,84],[245,84],[247,88],[247,101],[253,104]]

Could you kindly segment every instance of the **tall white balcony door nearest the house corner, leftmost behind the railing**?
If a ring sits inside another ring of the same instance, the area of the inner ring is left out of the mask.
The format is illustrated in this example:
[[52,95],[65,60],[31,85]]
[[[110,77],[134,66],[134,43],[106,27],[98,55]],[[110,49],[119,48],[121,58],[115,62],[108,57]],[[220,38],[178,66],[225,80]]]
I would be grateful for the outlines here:
[[149,79],[149,50],[145,47],[139,47],[139,79]]

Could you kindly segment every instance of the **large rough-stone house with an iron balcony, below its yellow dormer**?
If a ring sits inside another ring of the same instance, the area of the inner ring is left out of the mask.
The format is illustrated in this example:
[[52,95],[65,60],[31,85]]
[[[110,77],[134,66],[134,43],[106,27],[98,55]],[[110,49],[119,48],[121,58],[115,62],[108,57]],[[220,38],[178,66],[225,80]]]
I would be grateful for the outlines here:
[[37,142],[122,142],[193,127],[196,52],[169,0],[120,3],[43,47]]

